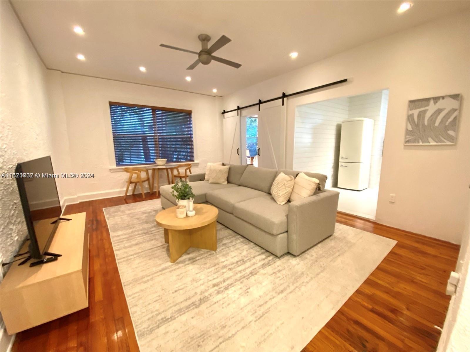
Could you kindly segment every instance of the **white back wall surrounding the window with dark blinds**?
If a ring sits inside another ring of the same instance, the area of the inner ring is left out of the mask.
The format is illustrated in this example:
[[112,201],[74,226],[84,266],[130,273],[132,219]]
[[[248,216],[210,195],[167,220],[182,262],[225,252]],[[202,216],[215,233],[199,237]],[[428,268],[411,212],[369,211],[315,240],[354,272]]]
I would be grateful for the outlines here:
[[[75,180],[79,200],[124,195],[128,174],[112,169],[116,163],[109,101],[192,110],[199,161],[193,173],[203,171],[207,162],[222,159],[220,98],[71,74],[60,74],[60,82],[71,160],[71,171],[63,172],[94,174],[93,179]],[[163,173],[161,182],[166,184]]]

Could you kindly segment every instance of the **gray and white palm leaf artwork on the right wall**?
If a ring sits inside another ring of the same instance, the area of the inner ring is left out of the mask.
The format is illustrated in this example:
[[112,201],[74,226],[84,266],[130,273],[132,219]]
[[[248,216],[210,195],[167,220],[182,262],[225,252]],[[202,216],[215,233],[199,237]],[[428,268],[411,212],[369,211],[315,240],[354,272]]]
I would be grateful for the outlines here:
[[410,100],[405,144],[455,144],[460,94]]

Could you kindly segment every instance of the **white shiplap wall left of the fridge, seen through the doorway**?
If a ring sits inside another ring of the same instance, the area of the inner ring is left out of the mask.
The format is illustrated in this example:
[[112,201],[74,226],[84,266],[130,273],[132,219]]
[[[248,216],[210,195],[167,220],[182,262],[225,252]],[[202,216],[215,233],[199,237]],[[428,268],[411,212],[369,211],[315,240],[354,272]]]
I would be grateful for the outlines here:
[[348,98],[297,107],[294,170],[328,176],[326,187],[337,185],[341,122],[348,118]]

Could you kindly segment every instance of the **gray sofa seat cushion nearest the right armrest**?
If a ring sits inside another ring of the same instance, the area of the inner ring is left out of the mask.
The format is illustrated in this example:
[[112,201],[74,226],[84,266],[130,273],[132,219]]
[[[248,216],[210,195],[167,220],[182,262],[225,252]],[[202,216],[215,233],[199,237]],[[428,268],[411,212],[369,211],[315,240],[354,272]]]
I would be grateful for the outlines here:
[[271,235],[287,231],[289,204],[279,205],[270,195],[235,204],[234,215]]

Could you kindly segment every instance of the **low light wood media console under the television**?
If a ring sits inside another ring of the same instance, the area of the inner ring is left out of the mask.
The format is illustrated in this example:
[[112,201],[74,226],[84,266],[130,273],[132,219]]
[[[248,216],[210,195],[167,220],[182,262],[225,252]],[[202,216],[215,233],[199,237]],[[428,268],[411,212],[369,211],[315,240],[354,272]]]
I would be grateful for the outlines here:
[[72,220],[58,225],[48,249],[62,257],[32,268],[15,262],[0,285],[0,311],[10,335],[88,306],[86,213],[65,217]]

